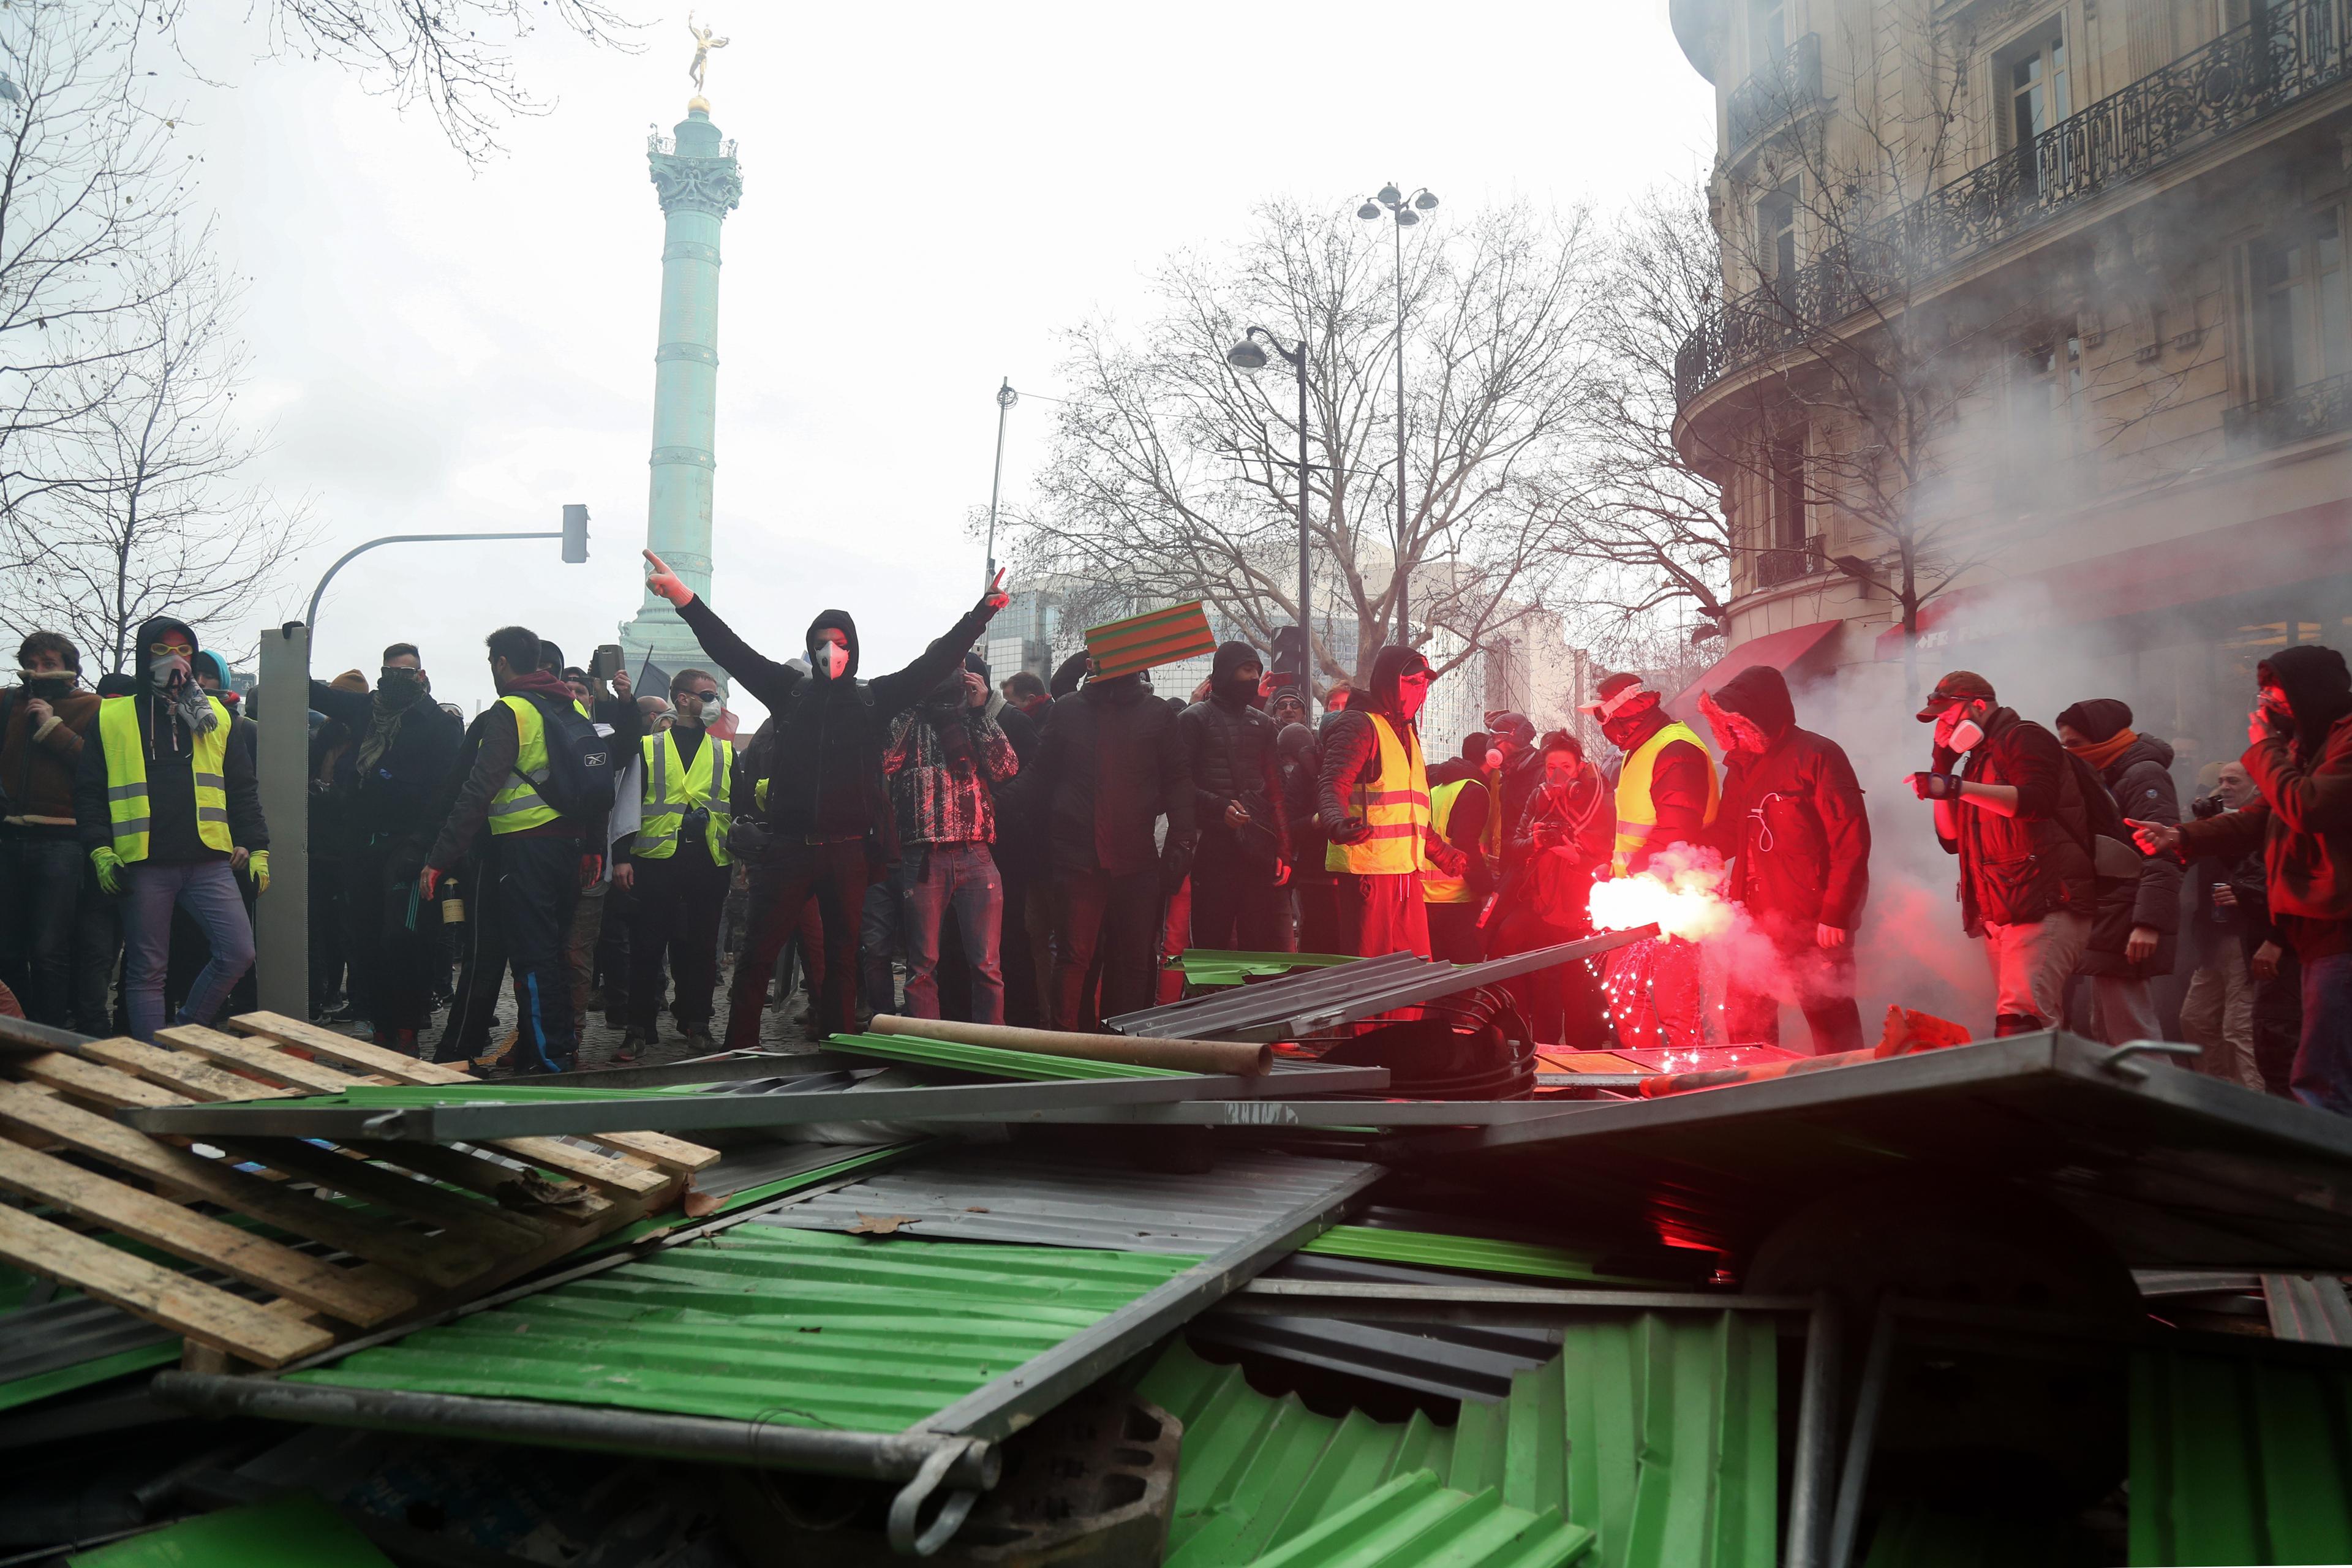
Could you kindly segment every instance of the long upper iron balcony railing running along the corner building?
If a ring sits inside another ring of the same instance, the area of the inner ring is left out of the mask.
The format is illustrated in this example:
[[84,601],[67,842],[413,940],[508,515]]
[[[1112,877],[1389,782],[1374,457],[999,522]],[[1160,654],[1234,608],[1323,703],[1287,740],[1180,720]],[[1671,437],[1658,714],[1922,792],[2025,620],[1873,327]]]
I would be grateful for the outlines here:
[[1675,355],[1675,400],[1689,404],[1726,374],[1792,348],[1823,327],[1884,306],[1936,273],[2032,233],[2176,158],[2352,75],[2352,0],[2281,0],[1978,165],[1846,244],[1712,310]]

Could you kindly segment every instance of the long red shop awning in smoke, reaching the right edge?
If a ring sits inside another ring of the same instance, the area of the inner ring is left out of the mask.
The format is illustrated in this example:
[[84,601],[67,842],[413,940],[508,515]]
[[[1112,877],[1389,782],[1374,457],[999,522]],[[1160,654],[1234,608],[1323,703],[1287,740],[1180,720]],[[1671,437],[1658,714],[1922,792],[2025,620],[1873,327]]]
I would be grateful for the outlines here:
[[[2077,625],[2089,625],[2336,576],[2347,567],[2352,567],[2352,501],[2321,501],[1931,599],[1919,611],[1919,646],[1999,637],[2046,621],[2053,609]],[[1903,658],[1900,623],[1879,632],[1877,656]]]

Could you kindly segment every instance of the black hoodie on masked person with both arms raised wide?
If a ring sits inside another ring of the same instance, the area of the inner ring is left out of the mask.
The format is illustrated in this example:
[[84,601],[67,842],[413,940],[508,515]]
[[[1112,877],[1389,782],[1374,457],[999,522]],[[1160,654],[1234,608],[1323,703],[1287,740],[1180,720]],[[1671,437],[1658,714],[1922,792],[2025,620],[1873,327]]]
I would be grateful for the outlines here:
[[[962,665],[964,649],[988,628],[995,611],[981,599],[915,663],[870,682],[858,679],[858,623],[849,611],[818,611],[809,621],[807,637],[814,642],[826,628],[842,630],[849,639],[849,665],[840,679],[802,675],[753,651],[699,595],[677,614],[694,628],[703,654],[760,698],[776,719],[776,743],[767,750],[764,778],[767,823],[781,846],[811,837],[856,839],[870,830],[889,830],[889,790],[882,783],[889,722]],[[750,790],[755,783],[746,778],[743,788]]]

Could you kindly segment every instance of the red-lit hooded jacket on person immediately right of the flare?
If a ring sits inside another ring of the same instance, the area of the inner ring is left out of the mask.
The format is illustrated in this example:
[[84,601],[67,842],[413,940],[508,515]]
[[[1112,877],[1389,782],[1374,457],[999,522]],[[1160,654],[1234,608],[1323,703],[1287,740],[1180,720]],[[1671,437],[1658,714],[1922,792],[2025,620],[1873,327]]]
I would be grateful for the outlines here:
[[[1712,698],[1764,731],[1764,755],[1729,752],[1712,842],[1731,860],[1729,896],[1766,929],[1853,931],[1870,898],[1870,818],[1837,741],[1797,729],[1788,682],[1769,665]],[[1973,806],[1971,806],[1973,811]]]

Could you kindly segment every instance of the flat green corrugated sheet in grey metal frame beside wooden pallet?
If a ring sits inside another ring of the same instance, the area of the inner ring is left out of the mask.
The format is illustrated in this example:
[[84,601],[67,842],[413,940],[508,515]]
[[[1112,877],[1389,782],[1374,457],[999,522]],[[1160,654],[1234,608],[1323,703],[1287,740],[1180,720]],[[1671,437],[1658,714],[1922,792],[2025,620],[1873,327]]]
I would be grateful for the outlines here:
[[736,1225],[289,1382],[901,1432],[1192,1262]]

